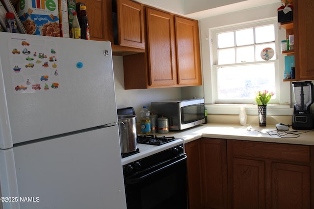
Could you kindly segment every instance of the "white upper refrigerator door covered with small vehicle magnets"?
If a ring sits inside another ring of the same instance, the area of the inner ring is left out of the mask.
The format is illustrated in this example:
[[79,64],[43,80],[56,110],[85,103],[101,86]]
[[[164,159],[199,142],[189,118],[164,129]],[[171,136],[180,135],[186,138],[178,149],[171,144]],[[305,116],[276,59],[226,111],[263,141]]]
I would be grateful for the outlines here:
[[0,46],[13,144],[117,122],[110,42],[0,32]]

